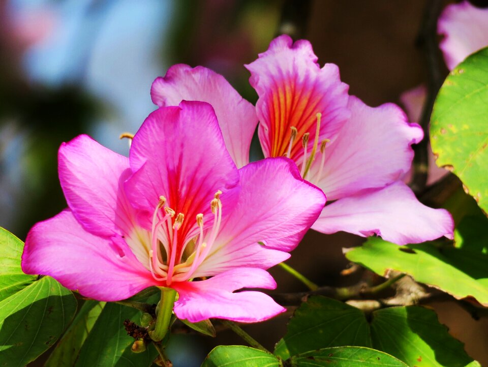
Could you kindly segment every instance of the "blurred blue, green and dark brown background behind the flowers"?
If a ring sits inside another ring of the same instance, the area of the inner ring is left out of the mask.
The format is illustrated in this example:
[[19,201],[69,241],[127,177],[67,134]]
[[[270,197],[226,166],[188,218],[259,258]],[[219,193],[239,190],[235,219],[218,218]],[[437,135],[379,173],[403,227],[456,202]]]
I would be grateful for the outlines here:
[[[286,0],[0,0],[0,226],[25,239],[35,222],[66,206],[56,171],[63,141],[86,133],[127,154],[118,136],[135,133],[155,109],[151,82],[172,64],[209,67],[255,102],[242,65],[290,30],[288,16],[320,64],[339,65],[351,94],[372,106],[398,102],[426,79],[416,40],[428,1],[303,1],[290,15]],[[259,159],[259,143],[252,157]],[[342,248],[360,242],[310,232],[289,263],[321,285],[352,284],[357,278],[340,274],[348,265]],[[302,290],[281,269],[271,271],[278,291]],[[488,365],[487,320],[455,304],[432,306]],[[288,316],[247,330],[271,348]],[[169,354],[175,367],[199,365],[212,346],[232,343],[241,341],[227,331],[217,339],[177,335]]]

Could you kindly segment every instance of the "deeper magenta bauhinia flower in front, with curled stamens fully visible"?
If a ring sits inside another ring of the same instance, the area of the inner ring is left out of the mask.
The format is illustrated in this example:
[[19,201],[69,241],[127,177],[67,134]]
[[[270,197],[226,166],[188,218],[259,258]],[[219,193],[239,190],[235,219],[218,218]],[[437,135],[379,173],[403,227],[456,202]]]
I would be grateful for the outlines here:
[[85,135],[63,144],[59,179],[69,208],[29,232],[22,270],[105,301],[171,287],[175,314],[192,322],[284,311],[235,291],[275,288],[265,269],[289,257],[325,204],[289,159],[237,169],[204,102],[151,113],[129,158]]

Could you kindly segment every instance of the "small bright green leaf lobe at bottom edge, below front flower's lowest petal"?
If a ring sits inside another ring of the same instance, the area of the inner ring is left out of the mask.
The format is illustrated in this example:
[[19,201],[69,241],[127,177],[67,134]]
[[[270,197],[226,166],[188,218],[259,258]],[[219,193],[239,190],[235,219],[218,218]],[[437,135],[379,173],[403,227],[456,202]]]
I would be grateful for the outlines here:
[[206,356],[202,367],[279,367],[270,353],[241,345],[218,346]]

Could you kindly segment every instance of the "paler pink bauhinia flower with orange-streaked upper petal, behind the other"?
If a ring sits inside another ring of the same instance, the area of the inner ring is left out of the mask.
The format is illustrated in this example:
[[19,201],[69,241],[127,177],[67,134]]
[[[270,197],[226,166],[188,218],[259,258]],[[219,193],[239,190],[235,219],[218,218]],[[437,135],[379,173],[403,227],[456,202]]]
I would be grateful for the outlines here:
[[376,233],[398,244],[452,237],[449,213],[421,204],[401,181],[411,144],[423,133],[400,107],[372,108],[349,96],[338,67],[320,68],[308,41],[280,36],[246,67],[259,96],[255,110],[203,67],[171,67],[155,80],[151,97],[159,106],[212,103],[227,146],[239,148],[231,149],[235,162],[248,160],[257,116],[264,156],[293,159],[301,176],[326,194],[329,204],[312,227],[320,232]]

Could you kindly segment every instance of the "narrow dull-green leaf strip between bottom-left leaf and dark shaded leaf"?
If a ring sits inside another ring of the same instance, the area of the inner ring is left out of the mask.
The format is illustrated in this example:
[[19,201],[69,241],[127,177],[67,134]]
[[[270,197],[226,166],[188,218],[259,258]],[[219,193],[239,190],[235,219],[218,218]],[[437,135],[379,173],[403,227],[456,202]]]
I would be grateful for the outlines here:
[[71,367],[105,302],[85,301],[63,338],[59,341],[44,367]]

